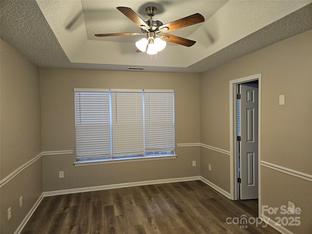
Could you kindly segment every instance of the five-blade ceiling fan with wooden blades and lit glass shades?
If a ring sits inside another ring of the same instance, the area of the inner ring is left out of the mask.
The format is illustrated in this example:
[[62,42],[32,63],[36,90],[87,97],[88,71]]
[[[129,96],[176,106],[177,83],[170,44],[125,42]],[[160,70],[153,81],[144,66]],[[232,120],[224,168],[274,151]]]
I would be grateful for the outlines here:
[[95,34],[97,37],[111,37],[111,36],[136,36],[146,35],[145,38],[136,42],[137,52],[145,52],[149,55],[155,55],[158,51],[161,51],[166,46],[166,41],[173,42],[179,45],[190,47],[195,44],[196,41],[180,38],[170,34],[161,34],[164,32],[174,31],[179,28],[194,25],[196,23],[204,22],[204,17],[199,13],[196,13],[185,18],[175,20],[170,23],[163,24],[159,20],[153,20],[153,16],[157,11],[156,7],[149,6],[145,9],[149,20],[142,20],[131,8],[129,7],[117,7],[117,9],[132,20],[142,33],[108,33],[108,34]]

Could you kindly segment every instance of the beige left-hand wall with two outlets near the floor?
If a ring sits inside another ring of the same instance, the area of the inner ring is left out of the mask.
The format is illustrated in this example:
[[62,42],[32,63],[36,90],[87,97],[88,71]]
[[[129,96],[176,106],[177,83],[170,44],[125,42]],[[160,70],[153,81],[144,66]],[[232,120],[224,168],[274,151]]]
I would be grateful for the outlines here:
[[[0,41],[0,178],[39,155],[39,68]],[[0,233],[14,233],[42,193],[41,158],[0,188]],[[20,208],[20,196],[23,205]],[[7,220],[11,207],[12,217]]]

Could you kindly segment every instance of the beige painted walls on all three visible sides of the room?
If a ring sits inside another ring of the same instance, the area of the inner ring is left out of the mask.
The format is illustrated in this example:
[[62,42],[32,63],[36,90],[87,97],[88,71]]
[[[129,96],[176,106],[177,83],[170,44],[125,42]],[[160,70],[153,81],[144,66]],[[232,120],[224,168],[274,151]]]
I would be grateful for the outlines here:
[[[174,89],[176,144],[201,142],[229,151],[229,81],[261,73],[262,160],[311,175],[311,41],[309,31],[201,75],[49,68],[40,68],[39,75],[37,66],[1,40],[1,179],[41,151],[74,150],[42,156],[1,187],[1,233],[17,229],[42,191],[201,175],[230,192],[229,156],[206,148],[177,147],[176,159],[75,167],[73,88]],[[286,96],[285,106],[278,105],[279,95]],[[293,202],[303,212],[301,225],[289,230],[311,230],[312,183],[266,167],[261,179],[262,204]]]

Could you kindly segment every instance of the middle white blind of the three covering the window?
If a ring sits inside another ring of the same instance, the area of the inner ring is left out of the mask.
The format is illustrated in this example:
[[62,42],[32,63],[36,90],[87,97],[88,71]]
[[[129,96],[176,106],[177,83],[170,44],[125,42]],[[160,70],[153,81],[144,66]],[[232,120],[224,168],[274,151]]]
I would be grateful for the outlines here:
[[114,92],[112,97],[113,156],[144,156],[143,94]]

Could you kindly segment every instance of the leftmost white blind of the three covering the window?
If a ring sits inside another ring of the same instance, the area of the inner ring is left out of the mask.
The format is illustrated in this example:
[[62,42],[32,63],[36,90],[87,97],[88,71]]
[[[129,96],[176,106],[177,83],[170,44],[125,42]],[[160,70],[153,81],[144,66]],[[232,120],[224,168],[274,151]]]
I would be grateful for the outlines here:
[[106,92],[75,92],[77,159],[109,157],[110,97]]

